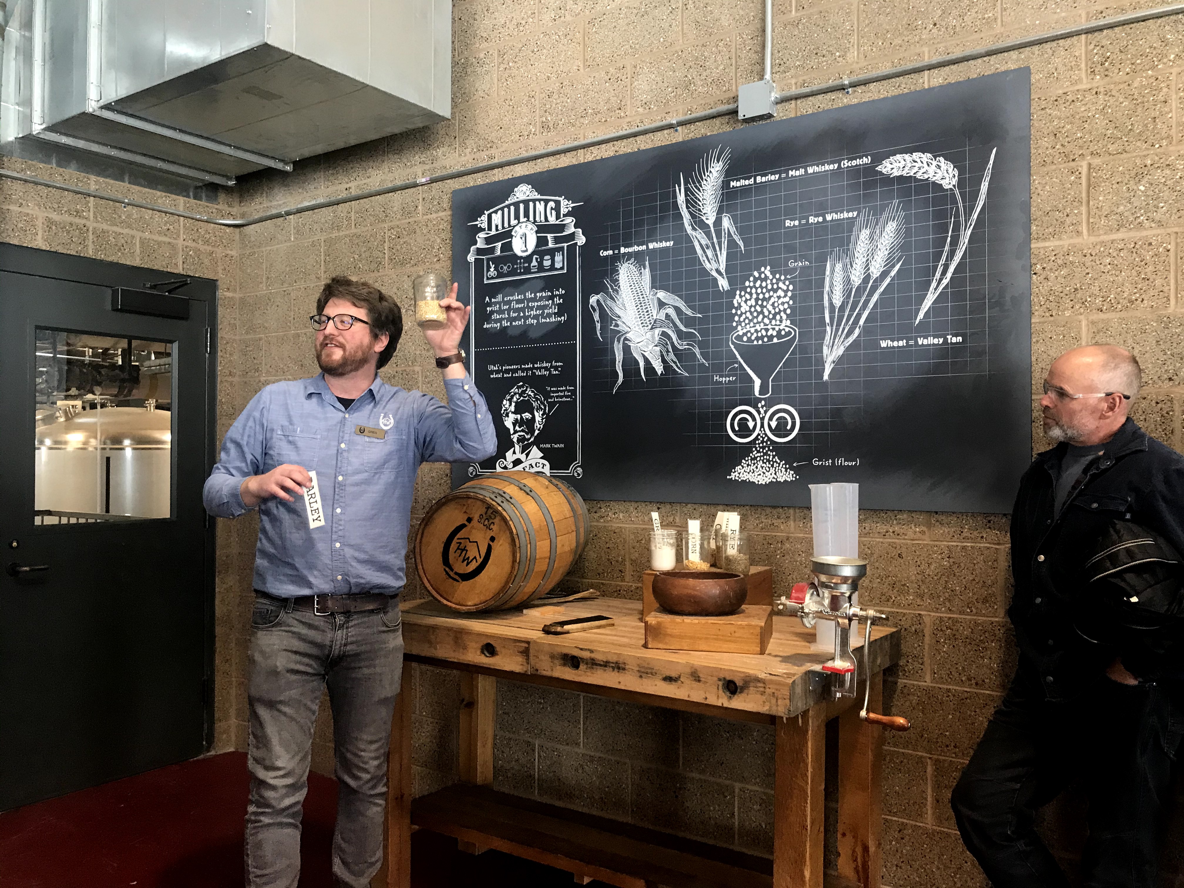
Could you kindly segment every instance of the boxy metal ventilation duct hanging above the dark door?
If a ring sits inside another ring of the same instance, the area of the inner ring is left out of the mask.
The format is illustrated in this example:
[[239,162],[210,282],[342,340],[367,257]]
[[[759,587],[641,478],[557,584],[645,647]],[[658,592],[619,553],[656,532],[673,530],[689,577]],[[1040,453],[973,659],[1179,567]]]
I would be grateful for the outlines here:
[[451,0],[14,6],[0,149],[34,139],[232,185],[451,114]]

